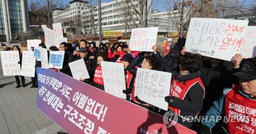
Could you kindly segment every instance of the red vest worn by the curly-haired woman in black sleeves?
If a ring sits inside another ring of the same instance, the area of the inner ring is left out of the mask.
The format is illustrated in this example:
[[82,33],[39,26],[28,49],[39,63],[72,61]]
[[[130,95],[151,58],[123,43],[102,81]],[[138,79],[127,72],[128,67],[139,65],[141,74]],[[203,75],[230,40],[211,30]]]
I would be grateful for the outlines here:
[[[179,99],[184,100],[187,92],[189,91],[189,89],[195,85],[196,83],[199,83],[203,89],[204,89],[204,85],[202,83],[202,80],[200,77],[194,78],[194,79],[190,79],[188,81],[186,81],[186,84],[183,84],[184,82],[179,82],[177,81],[176,77],[174,78],[172,84],[170,85],[170,96],[175,96]],[[204,89],[204,95],[205,95],[205,89]],[[180,110],[176,109],[170,105],[168,105],[168,108],[170,110],[172,110],[173,112],[175,112],[177,115],[180,115]],[[199,112],[197,113],[197,115],[199,114]]]

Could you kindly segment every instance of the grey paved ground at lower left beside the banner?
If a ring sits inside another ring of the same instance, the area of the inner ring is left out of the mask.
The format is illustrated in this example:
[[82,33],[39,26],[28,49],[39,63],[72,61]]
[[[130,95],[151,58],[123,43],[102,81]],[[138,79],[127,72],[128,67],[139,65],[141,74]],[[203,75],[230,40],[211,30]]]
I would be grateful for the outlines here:
[[16,89],[14,76],[3,75],[0,58],[0,133],[65,132],[37,109],[37,89],[30,88],[30,77],[25,78],[27,87]]

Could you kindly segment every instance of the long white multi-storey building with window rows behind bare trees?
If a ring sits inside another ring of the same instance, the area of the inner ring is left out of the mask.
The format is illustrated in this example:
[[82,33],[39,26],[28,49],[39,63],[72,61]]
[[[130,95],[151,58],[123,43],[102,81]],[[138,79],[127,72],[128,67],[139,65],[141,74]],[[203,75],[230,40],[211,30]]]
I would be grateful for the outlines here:
[[[126,28],[126,32],[130,34],[132,29],[135,28],[132,20],[126,17],[124,14],[123,2],[124,1],[118,0],[118,1],[112,1],[109,3],[101,4],[102,31],[121,31],[124,33]],[[127,2],[128,2],[128,5],[131,5],[131,3],[133,3],[133,5],[136,8],[139,8],[139,5],[135,0],[130,0]],[[147,5],[151,5],[151,1],[147,1],[147,2],[148,2]],[[131,8],[131,6],[129,6],[128,8]],[[90,10],[93,10],[93,11],[91,12]],[[159,34],[177,31],[175,26],[173,25],[172,20],[170,19],[170,16],[168,16],[167,12],[152,11],[151,7],[147,7],[144,10],[149,12],[147,27],[158,27]],[[136,18],[135,13],[133,14],[134,14],[135,22],[139,24],[139,21]],[[83,10],[82,11],[82,23],[83,23],[82,32],[84,34],[91,34],[91,31],[93,31],[94,34],[95,33],[98,34],[99,33],[98,21],[99,21],[98,6],[94,7],[93,9],[88,8],[86,10]]]

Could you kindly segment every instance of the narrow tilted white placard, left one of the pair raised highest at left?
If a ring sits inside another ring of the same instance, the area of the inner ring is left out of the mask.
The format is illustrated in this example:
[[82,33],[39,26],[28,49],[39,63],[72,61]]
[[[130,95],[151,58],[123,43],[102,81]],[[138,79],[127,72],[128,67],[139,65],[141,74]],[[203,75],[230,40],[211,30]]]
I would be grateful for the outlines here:
[[50,48],[50,46],[55,46],[55,38],[54,38],[54,32],[53,30],[44,27],[44,32],[45,32],[45,44],[47,49]]

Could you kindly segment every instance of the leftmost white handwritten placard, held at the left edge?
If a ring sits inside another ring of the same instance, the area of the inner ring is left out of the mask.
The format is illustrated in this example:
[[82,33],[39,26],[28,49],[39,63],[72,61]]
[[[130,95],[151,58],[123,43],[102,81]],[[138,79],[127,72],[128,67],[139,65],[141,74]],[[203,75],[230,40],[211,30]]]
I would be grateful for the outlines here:
[[20,75],[18,51],[1,51],[1,61],[4,76]]

